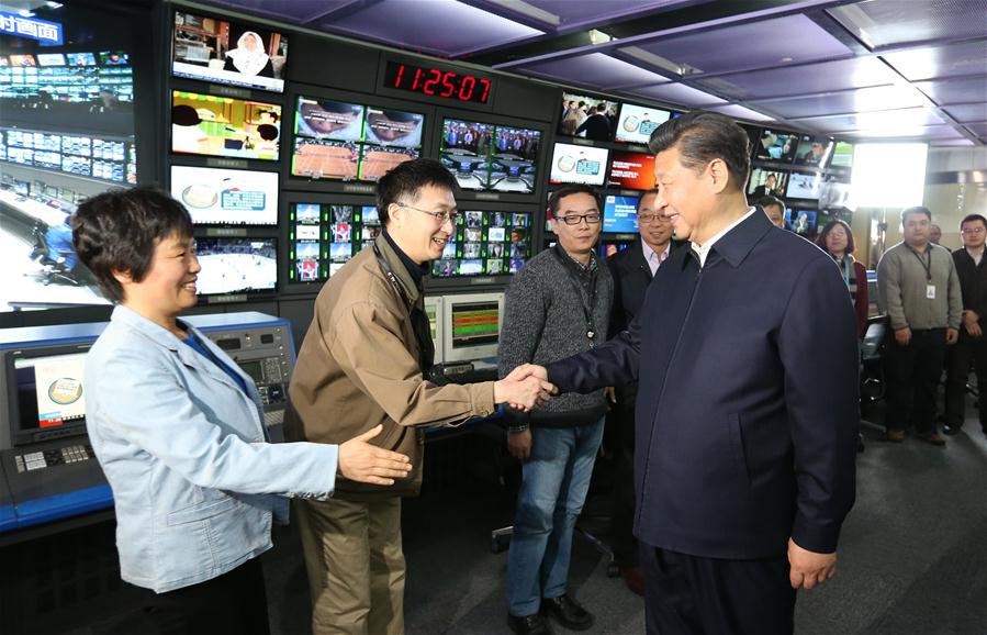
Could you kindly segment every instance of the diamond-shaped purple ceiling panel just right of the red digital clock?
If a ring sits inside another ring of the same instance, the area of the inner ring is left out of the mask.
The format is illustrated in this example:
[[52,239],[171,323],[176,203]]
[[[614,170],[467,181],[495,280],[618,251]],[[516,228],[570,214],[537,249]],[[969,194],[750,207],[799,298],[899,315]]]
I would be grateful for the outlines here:
[[523,75],[537,75],[562,83],[575,83],[598,90],[635,83],[662,83],[669,81],[665,77],[603,53],[550,59],[548,62],[518,66],[512,68],[512,70]]

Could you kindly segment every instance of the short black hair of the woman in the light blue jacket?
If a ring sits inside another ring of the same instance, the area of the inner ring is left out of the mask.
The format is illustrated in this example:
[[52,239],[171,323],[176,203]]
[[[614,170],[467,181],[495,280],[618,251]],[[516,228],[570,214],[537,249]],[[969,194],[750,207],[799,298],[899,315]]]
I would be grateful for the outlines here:
[[72,215],[72,246],[111,302],[124,300],[114,271],[135,282],[147,276],[158,242],[192,237],[192,218],[158,188],[114,189],[82,201]]

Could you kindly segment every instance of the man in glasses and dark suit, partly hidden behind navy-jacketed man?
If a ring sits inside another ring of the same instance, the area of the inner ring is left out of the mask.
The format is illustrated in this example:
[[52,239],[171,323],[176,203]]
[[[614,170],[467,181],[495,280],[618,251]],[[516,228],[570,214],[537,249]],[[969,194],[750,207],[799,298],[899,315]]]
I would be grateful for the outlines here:
[[[623,252],[606,259],[614,278],[614,304],[609,336],[627,328],[644,304],[644,293],[654,272],[672,252],[672,225],[657,205],[658,190],[648,190],[638,199],[638,231]],[[638,386],[616,387],[616,403],[607,415],[614,445],[614,491],[610,499],[610,545],[627,587],[644,594],[644,578],[633,537],[633,405]]]

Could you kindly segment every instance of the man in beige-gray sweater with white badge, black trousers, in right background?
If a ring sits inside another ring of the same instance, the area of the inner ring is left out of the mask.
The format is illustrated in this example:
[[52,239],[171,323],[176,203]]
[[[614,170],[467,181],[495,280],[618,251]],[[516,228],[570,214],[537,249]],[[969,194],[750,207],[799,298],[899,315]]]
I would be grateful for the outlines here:
[[904,441],[912,423],[921,441],[942,446],[946,442],[935,430],[936,389],[946,345],[960,335],[963,300],[950,252],[929,241],[931,225],[928,208],[901,212],[905,241],[881,258],[877,286],[895,333],[884,354],[885,439]]

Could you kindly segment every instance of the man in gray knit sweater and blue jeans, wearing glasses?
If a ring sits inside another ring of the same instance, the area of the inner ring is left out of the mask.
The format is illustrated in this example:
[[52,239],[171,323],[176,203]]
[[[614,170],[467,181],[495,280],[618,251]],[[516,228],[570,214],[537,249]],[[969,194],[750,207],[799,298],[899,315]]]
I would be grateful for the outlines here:
[[[497,350],[501,376],[521,364],[545,365],[606,339],[614,282],[593,253],[601,231],[599,196],[569,186],[549,199],[551,249],[517,272],[504,307]],[[530,413],[509,412],[508,449],[523,479],[507,558],[511,628],[550,633],[548,614],[583,631],[593,615],[567,592],[572,531],[583,508],[606,414],[604,391],[556,397]]]

